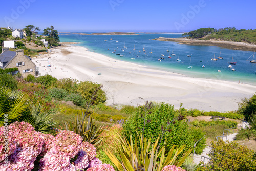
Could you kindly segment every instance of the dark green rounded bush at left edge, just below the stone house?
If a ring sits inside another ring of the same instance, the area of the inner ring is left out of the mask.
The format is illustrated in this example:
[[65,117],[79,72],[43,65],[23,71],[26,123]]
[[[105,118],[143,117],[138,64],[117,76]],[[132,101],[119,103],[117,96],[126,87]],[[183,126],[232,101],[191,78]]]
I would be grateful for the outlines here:
[[0,74],[0,87],[6,86],[10,89],[17,89],[18,88],[18,81],[15,77],[11,76],[10,74],[2,73]]

